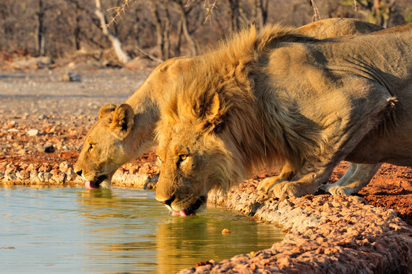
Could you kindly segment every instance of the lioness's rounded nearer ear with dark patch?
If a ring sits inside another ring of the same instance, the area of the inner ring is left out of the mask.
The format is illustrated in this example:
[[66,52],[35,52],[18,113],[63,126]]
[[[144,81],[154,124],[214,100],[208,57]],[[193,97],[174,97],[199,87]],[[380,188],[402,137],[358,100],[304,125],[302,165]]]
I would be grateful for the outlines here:
[[116,107],[110,130],[118,139],[124,139],[133,128],[135,112],[131,105],[122,104]]

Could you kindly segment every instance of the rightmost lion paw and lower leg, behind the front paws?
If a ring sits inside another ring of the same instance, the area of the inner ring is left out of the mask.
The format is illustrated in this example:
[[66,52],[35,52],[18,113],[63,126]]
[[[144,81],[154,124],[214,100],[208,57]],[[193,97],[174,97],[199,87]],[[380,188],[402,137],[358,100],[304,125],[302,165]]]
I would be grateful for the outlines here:
[[330,192],[330,194],[332,195],[351,195],[357,193],[364,186],[366,186],[369,181],[371,181],[371,178],[375,175],[376,171],[378,171],[379,167],[381,167],[381,163],[375,165],[353,165],[356,165],[356,169],[353,174],[350,174],[351,176],[348,176],[345,181],[342,181],[342,179],[345,177],[343,176],[336,183],[328,185],[328,188],[325,191]]

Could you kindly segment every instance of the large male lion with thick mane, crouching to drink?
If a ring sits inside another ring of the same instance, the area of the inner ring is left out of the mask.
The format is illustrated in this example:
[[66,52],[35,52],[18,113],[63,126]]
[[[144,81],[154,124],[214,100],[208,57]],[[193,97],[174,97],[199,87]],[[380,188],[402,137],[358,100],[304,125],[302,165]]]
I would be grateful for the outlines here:
[[[286,164],[259,187],[281,199],[315,192],[341,160],[412,165],[412,24],[325,40],[251,27],[193,63],[156,128],[156,199],[175,214],[261,163]],[[332,188],[367,182],[353,183]]]

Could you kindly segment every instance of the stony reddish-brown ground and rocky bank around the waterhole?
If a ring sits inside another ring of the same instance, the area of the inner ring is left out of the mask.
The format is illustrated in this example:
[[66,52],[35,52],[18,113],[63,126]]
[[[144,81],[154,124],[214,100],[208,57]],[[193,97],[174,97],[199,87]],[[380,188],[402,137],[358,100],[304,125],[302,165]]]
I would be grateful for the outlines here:
[[[0,70],[0,183],[82,185],[73,164],[98,109],[133,93],[149,70]],[[98,84],[96,84],[98,82]],[[330,182],[346,170],[337,167]],[[114,185],[154,188],[154,153],[124,165]],[[221,262],[199,262],[181,273],[412,273],[412,169],[383,165],[358,196],[322,193],[277,201],[255,193],[256,172],[209,203],[283,227],[271,249]]]

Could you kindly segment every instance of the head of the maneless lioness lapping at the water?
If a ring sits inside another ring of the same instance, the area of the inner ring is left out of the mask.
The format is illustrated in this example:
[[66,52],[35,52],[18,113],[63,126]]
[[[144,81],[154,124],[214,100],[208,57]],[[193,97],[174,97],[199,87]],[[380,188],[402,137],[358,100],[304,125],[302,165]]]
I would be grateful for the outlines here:
[[134,112],[130,105],[113,104],[101,108],[98,122],[84,138],[75,172],[86,188],[110,188],[112,175],[129,160],[128,137],[133,128]]

